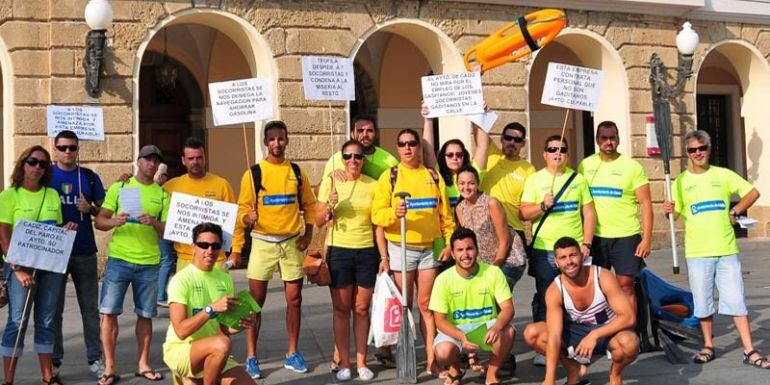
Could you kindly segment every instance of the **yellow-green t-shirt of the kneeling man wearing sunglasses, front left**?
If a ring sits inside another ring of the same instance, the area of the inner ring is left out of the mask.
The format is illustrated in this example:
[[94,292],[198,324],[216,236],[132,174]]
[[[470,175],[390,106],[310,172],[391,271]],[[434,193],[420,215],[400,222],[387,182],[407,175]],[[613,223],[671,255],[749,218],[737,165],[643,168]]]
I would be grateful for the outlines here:
[[[190,264],[177,272],[168,283],[168,303],[179,303],[187,307],[187,317],[192,317],[211,305],[212,302],[233,294],[233,278],[222,270],[213,268],[211,271],[198,269]],[[179,339],[174,331],[174,325],[169,323],[166,332],[166,342],[163,351],[174,344],[191,344],[201,338],[215,336],[219,333],[219,321],[216,318],[206,321],[203,326],[184,340]]]

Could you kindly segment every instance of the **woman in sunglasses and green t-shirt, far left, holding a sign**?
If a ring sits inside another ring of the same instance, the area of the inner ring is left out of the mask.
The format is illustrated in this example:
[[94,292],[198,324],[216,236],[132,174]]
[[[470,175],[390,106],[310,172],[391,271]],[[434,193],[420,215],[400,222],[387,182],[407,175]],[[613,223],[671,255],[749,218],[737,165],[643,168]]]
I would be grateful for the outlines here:
[[[62,222],[61,202],[55,189],[46,187],[53,175],[51,156],[42,146],[32,146],[21,153],[11,174],[11,187],[0,193],[0,251],[8,254],[13,228],[20,220],[59,225]],[[64,226],[74,230],[77,226],[69,222]],[[5,366],[5,383],[13,383],[18,358],[24,350],[25,329],[32,308],[35,308],[35,351],[40,360],[43,383],[61,384],[52,374],[51,352],[55,332],[54,313],[58,301],[58,288],[64,281],[64,274],[35,270],[30,267],[5,266],[8,290],[8,321],[2,338]],[[27,303],[29,301],[29,303]],[[24,312],[24,307],[26,312]],[[25,313],[22,320],[22,313]],[[18,334],[21,333],[19,336]],[[18,338],[18,339],[17,339]],[[14,349],[16,341],[18,348]],[[10,357],[16,355],[9,365]]]

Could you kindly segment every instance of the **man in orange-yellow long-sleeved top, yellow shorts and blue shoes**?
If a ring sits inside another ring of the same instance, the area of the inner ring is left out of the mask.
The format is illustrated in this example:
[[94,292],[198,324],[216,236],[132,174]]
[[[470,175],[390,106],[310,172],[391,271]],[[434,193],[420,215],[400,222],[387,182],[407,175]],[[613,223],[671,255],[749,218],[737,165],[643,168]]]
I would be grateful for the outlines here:
[[[302,262],[303,253],[313,237],[316,199],[307,174],[286,159],[286,146],[289,144],[286,124],[280,120],[268,122],[264,128],[263,144],[267,147],[267,157],[243,173],[238,196],[237,225],[252,227],[246,277],[251,295],[262,306],[267,296],[268,281],[279,268],[284,283],[289,336],[284,367],[305,373],[305,360],[297,351],[302,318],[302,280],[305,277]],[[256,357],[260,322],[260,315],[257,314],[254,327],[247,333],[249,357],[246,370],[252,378],[262,376]]]

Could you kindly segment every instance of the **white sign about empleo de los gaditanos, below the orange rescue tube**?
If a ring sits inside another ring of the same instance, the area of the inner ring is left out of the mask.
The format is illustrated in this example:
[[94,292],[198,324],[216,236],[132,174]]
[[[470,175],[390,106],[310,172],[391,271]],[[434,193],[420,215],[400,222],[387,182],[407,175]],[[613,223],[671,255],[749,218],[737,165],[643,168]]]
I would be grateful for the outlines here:
[[483,113],[481,74],[465,72],[423,76],[422,98],[428,106],[429,118]]

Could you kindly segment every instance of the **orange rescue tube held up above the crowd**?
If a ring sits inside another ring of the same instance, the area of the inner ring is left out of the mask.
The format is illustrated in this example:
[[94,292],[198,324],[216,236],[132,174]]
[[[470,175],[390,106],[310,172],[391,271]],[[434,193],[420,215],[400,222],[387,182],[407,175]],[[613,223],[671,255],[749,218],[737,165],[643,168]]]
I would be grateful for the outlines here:
[[567,25],[560,9],[543,9],[506,24],[465,53],[465,67],[481,64],[481,72],[512,62],[550,43]]

